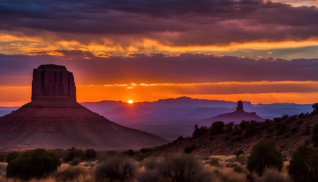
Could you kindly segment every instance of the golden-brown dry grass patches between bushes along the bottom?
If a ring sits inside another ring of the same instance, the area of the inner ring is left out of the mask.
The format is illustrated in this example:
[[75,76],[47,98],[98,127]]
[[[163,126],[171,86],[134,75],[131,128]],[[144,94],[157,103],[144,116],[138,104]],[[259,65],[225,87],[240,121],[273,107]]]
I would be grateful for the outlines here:
[[[257,176],[254,173],[251,173],[246,168],[246,164],[242,161],[246,159],[245,155],[241,155],[239,159],[236,156],[211,156],[201,158],[202,166],[204,169],[209,173],[209,176],[205,178],[205,181],[216,181],[216,182],[249,182],[246,178],[246,174],[253,176],[254,181],[256,182],[289,182],[291,179],[288,176],[287,166],[289,162],[284,162],[282,171],[279,172],[275,169],[266,169],[264,171],[263,176]],[[136,171],[136,175],[141,175],[145,172],[145,166],[152,164],[153,161],[160,162],[163,158],[146,158],[145,161],[140,162],[138,169]],[[211,165],[211,160],[217,161],[216,164]],[[77,166],[70,166],[67,163],[63,163],[56,172],[52,173],[51,175],[47,176],[43,179],[30,179],[31,182],[90,182],[90,181],[98,181],[94,175],[93,170],[98,161],[88,161],[88,162],[81,162]],[[147,164],[147,165],[146,165]],[[5,168],[6,163],[0,163],[0,182],[22,182],[22,180],[15,179],[15,178],[6,178],[5,177]],[[160,167],[156,165],[150,165],[148,167]],[[149,172],[149,170],[147,171]],[[149,174],[150,175],[150,174]],[[159,175],[158,171],[153,170],[151,176]],[[136,176],[136,178],[141,180],[141,177]],[[155,177],[153,177],[155,178]],[[149,179],[149,178],[148,178]],[[158,179],[158,178],[157,178]],[[107,178],[104,180],[108,180]],[[125,181],[130,182],[137,182],[137,179],[130,178]],[[160,177],[158,180],[155,181],[171,181],[170,178]]]

